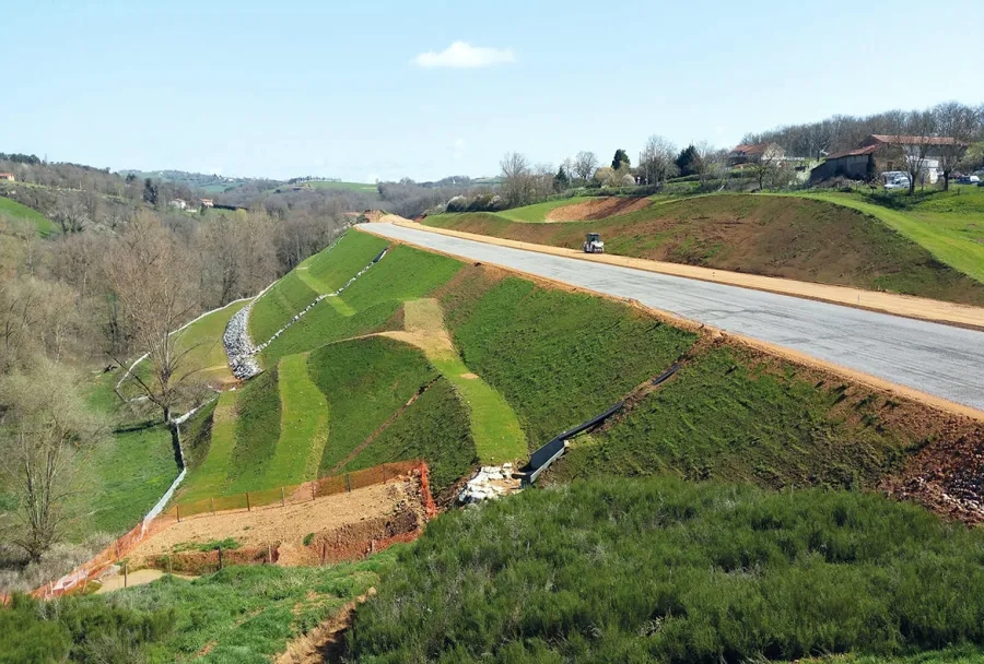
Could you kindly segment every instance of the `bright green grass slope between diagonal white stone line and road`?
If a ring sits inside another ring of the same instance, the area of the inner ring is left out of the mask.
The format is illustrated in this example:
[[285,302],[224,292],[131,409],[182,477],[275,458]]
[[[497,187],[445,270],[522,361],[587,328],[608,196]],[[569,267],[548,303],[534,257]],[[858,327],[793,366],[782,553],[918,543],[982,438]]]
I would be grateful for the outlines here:
[[[340,298],[325,298],[291,325],[263,349],[260,360],[263,366],[273,366],[286,355],[314,351],[327,343],[361,334],[397,329],[388,321],[403,300],[423,297],[446,283],[460,269],[460,262],[443,256],[405,246],[394,247]],[[333,301],[336,299],[342,300],[355,313],[345,316],[340,312],[338,303]],[[329,300],[332,304],[327,304]]]

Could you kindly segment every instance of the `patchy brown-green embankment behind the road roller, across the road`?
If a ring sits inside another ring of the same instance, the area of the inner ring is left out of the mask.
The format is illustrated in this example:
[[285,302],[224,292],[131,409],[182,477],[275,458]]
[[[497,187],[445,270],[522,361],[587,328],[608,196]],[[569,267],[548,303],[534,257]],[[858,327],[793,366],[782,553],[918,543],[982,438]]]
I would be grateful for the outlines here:
[[[940,254],[922,237],[825,200],[721,194],[595,222],[529,224],[475,213],[424,224],[571,249],[598,232],[611,253],[984,306],[984,283],[971,278],[982,275],[980,258],[974,271],[972,260]],[[973,246],[971,256],[984,256],[984,245],[961,245]]]

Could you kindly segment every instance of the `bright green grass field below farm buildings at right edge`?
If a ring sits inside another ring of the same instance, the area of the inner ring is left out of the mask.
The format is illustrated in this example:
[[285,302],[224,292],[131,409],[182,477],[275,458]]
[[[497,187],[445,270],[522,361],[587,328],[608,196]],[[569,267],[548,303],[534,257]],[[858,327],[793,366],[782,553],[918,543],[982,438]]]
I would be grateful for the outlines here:
[[937,260],[984,282],[984,189],[968,187],[952,192],[917,197],[866,197],[811,193],[811,199],[852,208],[891,226],[925,247]]

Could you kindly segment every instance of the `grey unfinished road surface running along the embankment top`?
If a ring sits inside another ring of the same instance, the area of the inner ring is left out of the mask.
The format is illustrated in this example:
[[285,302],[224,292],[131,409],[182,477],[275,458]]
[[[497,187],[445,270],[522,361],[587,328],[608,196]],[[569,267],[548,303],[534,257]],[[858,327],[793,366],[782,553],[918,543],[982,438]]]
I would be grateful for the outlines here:
[[798,351],[984,411],[984,332],[374,224],[373,230],[522,270]]

